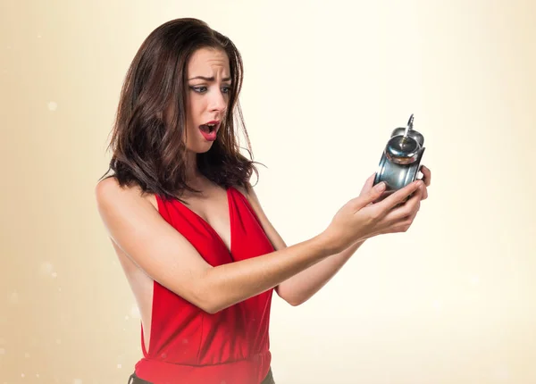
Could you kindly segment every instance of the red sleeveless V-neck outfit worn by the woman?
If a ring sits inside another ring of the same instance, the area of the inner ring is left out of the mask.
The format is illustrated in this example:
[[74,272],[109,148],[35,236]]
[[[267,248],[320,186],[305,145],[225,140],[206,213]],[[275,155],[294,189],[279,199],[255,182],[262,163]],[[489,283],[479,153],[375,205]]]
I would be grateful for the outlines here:
[[[158,210],[213,266],[265,255],[274,248],[247,198],[227,189],[231,250],[197,213],[157,196]],[[150,342],[141,330],[140,379],[154,384],[258,384],[270,369],[272,289],[218,313],[205,313],[156,281]]]

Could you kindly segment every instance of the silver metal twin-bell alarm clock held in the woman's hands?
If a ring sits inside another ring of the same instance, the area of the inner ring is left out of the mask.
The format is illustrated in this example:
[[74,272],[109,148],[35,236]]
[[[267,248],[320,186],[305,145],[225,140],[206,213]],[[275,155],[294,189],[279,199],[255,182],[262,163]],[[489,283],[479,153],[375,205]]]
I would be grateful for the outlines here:
[[412,114],[406,127],[391,132],[391,137],[381,154],[374,185],[381,181],[385,182],[386,188],[382,198],[406,187],[418,177],[424,153],[424,137],[413,128],[413,125]]

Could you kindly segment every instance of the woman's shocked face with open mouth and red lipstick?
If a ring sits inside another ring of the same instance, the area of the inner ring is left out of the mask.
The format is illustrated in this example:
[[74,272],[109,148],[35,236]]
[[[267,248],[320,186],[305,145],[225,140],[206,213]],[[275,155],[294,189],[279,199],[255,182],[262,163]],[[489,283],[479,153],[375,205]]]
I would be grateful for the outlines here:
[[201,48],[187,67],[186,147],[197,154],[210,149],[227,112],[229,58],[222,50]]

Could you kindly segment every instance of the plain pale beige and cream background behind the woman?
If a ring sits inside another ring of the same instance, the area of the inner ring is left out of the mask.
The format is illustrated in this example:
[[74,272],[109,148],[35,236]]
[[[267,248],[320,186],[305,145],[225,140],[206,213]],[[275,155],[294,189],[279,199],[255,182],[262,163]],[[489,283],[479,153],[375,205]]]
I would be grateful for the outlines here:
[[277,383],[536,383],[536,3],[2,0],[0,384],[126,383],[141,355],[93,188],[130,60],[183,16],[244,56],[256,190],[289,244],[410,113],[426,139],[412,229],[306,305],[274,299]]

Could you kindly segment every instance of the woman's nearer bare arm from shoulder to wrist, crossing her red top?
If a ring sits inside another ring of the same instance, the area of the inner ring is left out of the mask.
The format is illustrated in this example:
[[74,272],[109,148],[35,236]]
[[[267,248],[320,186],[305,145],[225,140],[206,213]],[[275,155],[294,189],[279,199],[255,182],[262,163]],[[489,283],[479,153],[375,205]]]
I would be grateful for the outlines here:
[[316,236],[268,255],[213,267],[173,229],[138,188],[113,178],[96,187],[98,211],[114,245],[153,280],[208,313],[281,284],[333,254],[329,236]]

